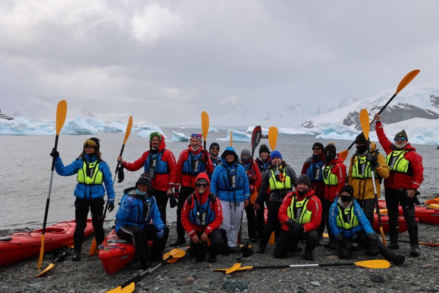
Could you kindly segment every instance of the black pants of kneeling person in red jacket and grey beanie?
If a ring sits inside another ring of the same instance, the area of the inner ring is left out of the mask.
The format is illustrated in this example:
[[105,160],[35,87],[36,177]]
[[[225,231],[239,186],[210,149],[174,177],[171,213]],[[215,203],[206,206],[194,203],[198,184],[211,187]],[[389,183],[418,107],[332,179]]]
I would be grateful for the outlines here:
[[305,251],[312,252],[319,243],[319,231],[310,230],[306,233],[293,233],[282,230],[278,242],[276,242],[273,256],[275,258],[285,258],[291,248],[296,247],[301,239],[306,240]]

